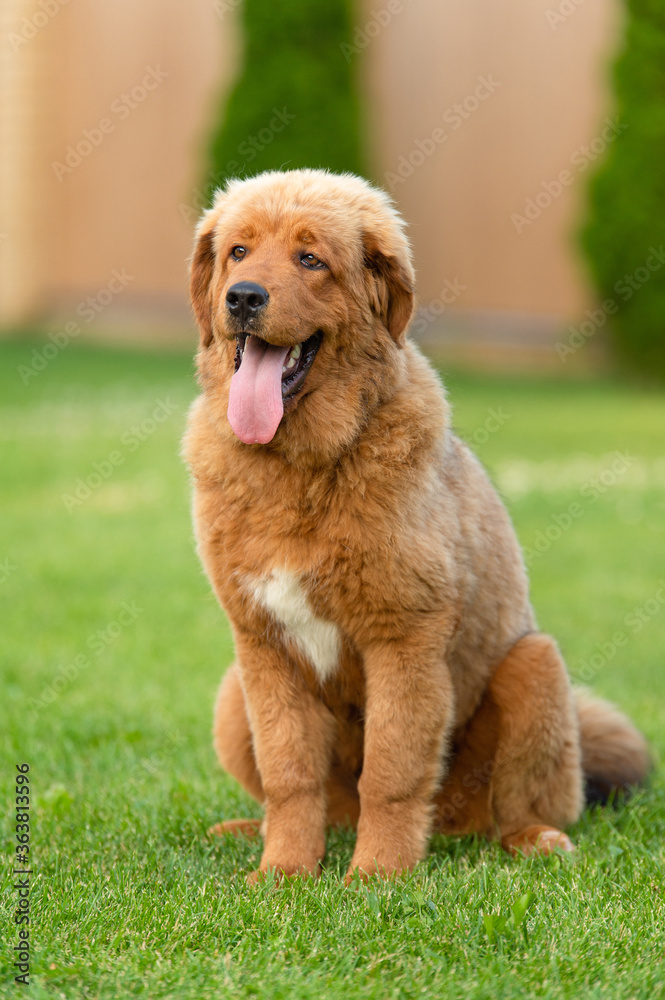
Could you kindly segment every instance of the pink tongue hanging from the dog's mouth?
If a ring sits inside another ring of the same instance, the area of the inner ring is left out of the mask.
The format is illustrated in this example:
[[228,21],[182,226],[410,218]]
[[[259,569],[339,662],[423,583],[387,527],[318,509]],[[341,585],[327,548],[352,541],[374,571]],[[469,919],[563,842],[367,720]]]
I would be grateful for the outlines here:
[[282,365],[287,347],[274,347],[247,337],[240,368],[231,379],[227,415],[236,437],[245,444],[272,441],[284,415]]

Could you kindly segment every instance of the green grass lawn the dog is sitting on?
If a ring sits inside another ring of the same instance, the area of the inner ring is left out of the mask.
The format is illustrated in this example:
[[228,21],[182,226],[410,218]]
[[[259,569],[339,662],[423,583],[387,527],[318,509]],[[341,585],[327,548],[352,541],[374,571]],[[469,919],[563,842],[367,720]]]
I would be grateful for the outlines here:
[[[663,996],[663,393],[445,376],[455,425],[530,550],[541,627],[647,734],[649,789],[585,814],[572,860],[438,836],[411,877],[355,892],[341,884],[341,832],[320,881],[248,889],[257,845],[205,838],[255,810],[210,741],[231,639],[194,553],[178,457],[191,360],[72,344],[24,384],[35,346],[0,346],[8,862],[17,764],[32,796],[22,995]],[[3,879],[10,996],[9,863]]]

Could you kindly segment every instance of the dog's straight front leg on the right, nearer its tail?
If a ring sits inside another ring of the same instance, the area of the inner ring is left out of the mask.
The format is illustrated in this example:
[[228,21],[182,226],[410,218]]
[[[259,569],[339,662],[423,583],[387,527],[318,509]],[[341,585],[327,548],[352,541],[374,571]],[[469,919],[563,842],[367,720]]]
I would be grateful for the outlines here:
[[440,650],[408,642],[365,654],[365,755],[358,782],[358,839],[347,883],[378,872],[392,875],[422,857],[453,690]]

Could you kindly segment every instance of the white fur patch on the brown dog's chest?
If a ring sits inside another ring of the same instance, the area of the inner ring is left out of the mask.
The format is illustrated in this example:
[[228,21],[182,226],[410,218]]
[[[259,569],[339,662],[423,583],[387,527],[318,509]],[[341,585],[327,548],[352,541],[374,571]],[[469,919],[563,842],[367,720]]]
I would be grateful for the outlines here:
[[283,626],[321,680],[327,680],[339,662],[339,629],[314,614],[300,578],[288,570],[275,569],[262,580],[252,580],[249,586],[256,601]]

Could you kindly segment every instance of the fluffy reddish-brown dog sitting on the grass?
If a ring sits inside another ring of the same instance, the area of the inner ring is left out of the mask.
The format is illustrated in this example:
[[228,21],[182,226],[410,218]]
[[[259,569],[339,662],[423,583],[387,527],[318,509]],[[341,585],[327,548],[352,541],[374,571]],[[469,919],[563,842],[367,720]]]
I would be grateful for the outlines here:
[[237,651],[215,747],[265,806],[259,872],[317,872],[345,821],[347,878],[412,867],[433,829],[572,849],[584,777],[638,782],[646,747],[575,697],[536,630],[508,515],[406,338],[389,198],[317,170],[233,181],[198,227],[191,293],[185,448]]

